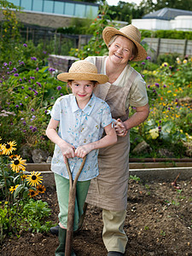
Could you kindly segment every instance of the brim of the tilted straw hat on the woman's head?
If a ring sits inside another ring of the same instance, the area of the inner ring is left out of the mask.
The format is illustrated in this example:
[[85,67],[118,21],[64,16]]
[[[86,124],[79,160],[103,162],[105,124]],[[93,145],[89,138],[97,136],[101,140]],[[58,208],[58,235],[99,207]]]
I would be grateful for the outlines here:
[[113,26],[107,26],[102,31],[102,38],[103,38],[103,40],[104,40],[104,42],[107,46],[108,46],[111,38],[113,38],[113,36],[115,36],[115,35],[119,35],[119,36],[123,36],[125,38],[128,38],[134,44],[136,44],[136,46],[137,46],[137,55],[131,61],[143,61],[147,58],[148,54],[147,54],[146,50],[143,48],[143,46],[141,44],[139,44],[133,38],[125,35],[125,33],[120,32],[118,29],[114,28]]

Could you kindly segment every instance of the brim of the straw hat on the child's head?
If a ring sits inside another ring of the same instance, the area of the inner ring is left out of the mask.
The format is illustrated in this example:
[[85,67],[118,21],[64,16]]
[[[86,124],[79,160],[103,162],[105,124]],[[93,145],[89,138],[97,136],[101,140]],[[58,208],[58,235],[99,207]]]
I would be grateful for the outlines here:
[[108,76],[99,73],[60,73],[57,76],[57,79],[62,82],[67,82],[68,80],[90,80],[96,81],[99,84],[105,84],[108,82]]

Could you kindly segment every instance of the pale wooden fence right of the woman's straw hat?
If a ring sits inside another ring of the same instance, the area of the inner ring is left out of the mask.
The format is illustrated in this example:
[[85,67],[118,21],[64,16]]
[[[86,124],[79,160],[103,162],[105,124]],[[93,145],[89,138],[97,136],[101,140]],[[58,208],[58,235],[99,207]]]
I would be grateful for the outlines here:
[[144,38],[143,43],[147,43],[154,56],[162,54],[177,53],[178,55],[192,55],[192,41],[184,39],[166,38]]

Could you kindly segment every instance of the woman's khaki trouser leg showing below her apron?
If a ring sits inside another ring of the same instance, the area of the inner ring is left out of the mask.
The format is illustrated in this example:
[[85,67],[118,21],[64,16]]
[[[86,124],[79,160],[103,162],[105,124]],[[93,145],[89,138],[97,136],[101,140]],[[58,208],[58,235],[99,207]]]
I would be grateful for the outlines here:
[[128,238],[123,230],[126,210],[113,212],[102,209],[103,231],[102,240],[108,252],[125,253]]

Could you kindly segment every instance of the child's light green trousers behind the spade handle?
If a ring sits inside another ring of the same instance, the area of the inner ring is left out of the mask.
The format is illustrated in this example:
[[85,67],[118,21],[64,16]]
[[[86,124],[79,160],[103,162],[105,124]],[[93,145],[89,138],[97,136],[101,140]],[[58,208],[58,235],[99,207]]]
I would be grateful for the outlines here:
[[[61,175],[55,173],[55,184],[57,200],[59,203],[59,220],[64,228],[67,229],[67,215],[68,215],[68,195],[69,195],[69,180]],[[90,187],[90,180],[79,181],[76,186],[75,212],[73,230],[79,228],[79,218],[83,214],[84,201]]]

